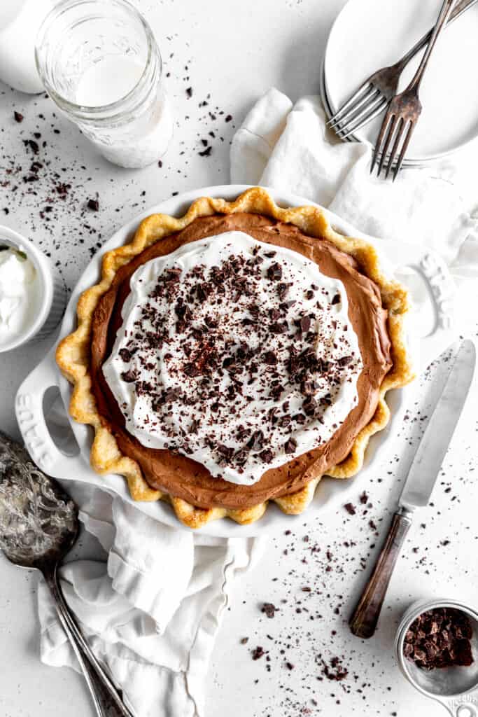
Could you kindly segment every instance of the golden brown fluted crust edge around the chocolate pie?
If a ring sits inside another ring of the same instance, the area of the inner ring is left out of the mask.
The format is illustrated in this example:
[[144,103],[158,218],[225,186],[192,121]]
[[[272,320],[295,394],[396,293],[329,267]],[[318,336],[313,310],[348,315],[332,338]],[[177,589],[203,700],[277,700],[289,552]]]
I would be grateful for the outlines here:
[[[262,214],[279,222],[295,225],[308,237],[321,237],[335,245],[340,252],[353,257],[360,272],[369,277],[380,289],[383,308],[388,311],[387,330],[391,340],[392,367],[380,386],[380,398],[373,418],[363,427],[355,439],[352,450],[345,460],[327,470],[334,478],[348,478],[362,465],[363,454],[368,438],[382,429],[388,422],[389,411],[385,402],[388,389],[403,386],[413,378],[403,341],[403,317],[408,308],[406,290],[397,282],[389,281],[381,273],[376,250],[363,241],[343,237],[335,232],[324,213],[312,206],[297,208],[279,208],[267,191],[259,187],[249,189],[236,201],[201,198],[193,202],[188,212],[176,219],[166,214],[153,214],[141,222],[132,242],[105,254],[102,261],[102,280],[86,290],[80,297],[77,308],[77,330],[63,339],[57,348],[57,363],[64,376],[74,385],[70,403],[70,413],[78,422],[87,423],[95,428],[95,440],[92,444],[91,463],[98,473],[120,473],[128,480],[130,493],[135,500],[168,500],[172,503],[178,518],[187,526],[196,528],[210,520],[228,516],[238,523],[251,523],[262,516],[267,500],[244,508],[227,508],[215,505],[199,508],[178,496],[150,488],[138,462],[123,454],[107,421],[102,419],[97,409],[92,391],[90,374],[90,347],[92,341],[93,314],[101,310],[100,299],[107,293],[113,279],[124,265],[143,250],[164,237],[188,227],[198,217],[211,217],[214,214]],[[100,303],[100,306],[98,304]],[[312,466],[313,467],[313,466]],[[307,471],[307,483],[300,490],[272,498],[285,513],[301,513],[310,503],[317,483],[320,481],[317,470]]]

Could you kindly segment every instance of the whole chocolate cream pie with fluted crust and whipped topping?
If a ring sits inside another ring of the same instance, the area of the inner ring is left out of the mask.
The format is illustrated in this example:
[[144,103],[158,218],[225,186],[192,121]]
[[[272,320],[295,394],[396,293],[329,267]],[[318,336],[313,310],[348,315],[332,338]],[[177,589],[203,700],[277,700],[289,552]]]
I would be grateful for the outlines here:
[[57,363],[98,473],[193,528],[250,523],[360,469],[386,391],[412,378],[407,308],[371,244],[256,187],[153,214],[107,252]]

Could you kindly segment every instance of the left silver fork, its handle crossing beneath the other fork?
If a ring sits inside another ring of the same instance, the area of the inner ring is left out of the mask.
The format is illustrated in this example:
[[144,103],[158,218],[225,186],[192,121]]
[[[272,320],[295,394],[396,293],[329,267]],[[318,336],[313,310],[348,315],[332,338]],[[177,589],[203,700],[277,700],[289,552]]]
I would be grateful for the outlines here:
[[[460,0],[451,11],[446,27],[477,2],[478,0]],[[368,80],[365,80],[363,85],[328,120],[328,125],[333,128],[341,139],[350,137],[351,134],[371,122],[386,108],[397,93],[398,80],[400,80],[404,68],[430,42],[432,32],[433,28],[419,39],[419,42],[408,50],[395,65],[382,67],[381,70],[368,77]],[[352,123],[351,126],[350,123]]]

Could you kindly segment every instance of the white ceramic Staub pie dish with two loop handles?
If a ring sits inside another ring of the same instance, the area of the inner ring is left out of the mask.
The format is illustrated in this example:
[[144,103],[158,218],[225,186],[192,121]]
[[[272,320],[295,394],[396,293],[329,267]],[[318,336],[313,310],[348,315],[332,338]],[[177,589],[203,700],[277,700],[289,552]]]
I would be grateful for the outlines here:
[[[83,290],[95,284],[100,277],[100,262],[102,254],[113,247],[118,247],[130,239],[138,227],[141,219],[148,217],[155,212],[165,214],[181,215],[188,209],[192,201],[200,196],[217,196],[224,199],[235,199],[242,191],[247,189],[245,185],[212,186],[186,192],[181,196],[173,197],[150,207],[142,214],[132,219],[118,232],[113,234],[102,247],[102,252],[93,257],[87,266],[82,277],[78,281],[75,290],[67,306],[60,336],[66,336],[74,331],[76,326],[77,300]],[[302,204],[313,204],[307,199],[302,199],[287,192],[268,189],[277,204],[282,206],[300,206]],[[363,237],[378,247],[383,257],[383,262],[388,262],[388,270],[393,267],[402,267],[401,278],[403,279],[403,267],[410,267],[407,271],[414,281],[418,281],[421,297],[429,300],[432,312],[431,326],[428,335],[419,337],[416,331],[411,331],[411,343],[413,353],[416,356],[416,370],[420,371],[429,364],[436,356],[444,351],[444,348],[451,343],[453,332],[452,326],[452,300],[454,285],[451,276],[443,260],[433,252],[424,250],[423,247],[413,244],[401,244],[387,240],[376,240],[366,237],[365,234],[351,227],[331,212],[327,212],[330,223],[334,229],[350,236]],[[417,278],[419,277],[419,278]],[[96,487],[104,488],[120,495],[125,500],[133,503],[130,498],[125,479],[120,475],[97,475],[90,467],[89,456],[92,442],[92,429],[88,426],[78,424],[70,419],[72,430],[75,434],[80,451],[77,455],[66,455],[59,450],[52,440],[43,412],[43,397],[50,386],[59,386],[64,402],[65,412],[70,402],[71,386],[59,373],[54,361],[54,350],[32,371],[27,379],[21,384],[16,394],[16,417],[19,422],[21,434],[24,437],[25,445],[34,462],[49,475],[67,482],[75,480],[80,483],[89,483]],[[348,480],[334,480],[323,478],[315,492],[315,498],[305,513],[300,516],[288,516],[282,513],[276,505],[270,504],[264,516],[252,523],[250,526],[239,526],[229,518],[208,523],[201,528],[201,532],[214,536],[251,536],[264,533],[271,533],[285,528],[293,529],[295,524],[302,525],[305,521],[313,520],[320,513],[337,508],[350,500],[351,495],[357,495],[367,485],[368,475],[374,470],[375,456],[378,451],[386,450],[388,439],[393,437],[394,427],[401,421],[401,415],[411,397],[410,387],[400,391],[391,391],[388,394],[388,404],[391,406],[392,419],[388,427],[373,437],[368,451],[365,455],[363,469]],[[67,414],[68,415],[68,414]],[[67,488],[67,485],[66,485]],[[159,500],[156,503],[133,503],[136,508],[149,516],[166,523],[170,526],[188,530],[179,523],[170,505]]]

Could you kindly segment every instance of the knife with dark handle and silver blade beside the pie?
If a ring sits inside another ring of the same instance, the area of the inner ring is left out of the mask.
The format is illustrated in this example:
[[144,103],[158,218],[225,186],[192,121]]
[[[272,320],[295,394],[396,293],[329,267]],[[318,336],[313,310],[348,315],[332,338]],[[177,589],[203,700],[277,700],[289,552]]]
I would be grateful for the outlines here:
[[475,364],[474,344],[469,340],[462,341],[445,381],[443,382],[443,378],[436,379],[436,383],[442,386],[441,394],[408,470],[398,500],[399,508],[393,515],[386,541],[383,543],[362,597],[350,618],[349,625],[353,635],[372,637],[376,630],[388,583],[411,526],[413,513],[416,508],[428,505],[446,450],[467,399]]

